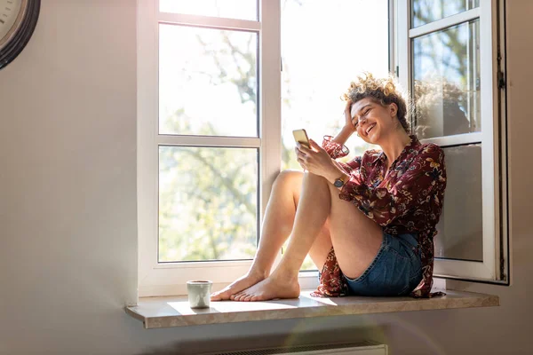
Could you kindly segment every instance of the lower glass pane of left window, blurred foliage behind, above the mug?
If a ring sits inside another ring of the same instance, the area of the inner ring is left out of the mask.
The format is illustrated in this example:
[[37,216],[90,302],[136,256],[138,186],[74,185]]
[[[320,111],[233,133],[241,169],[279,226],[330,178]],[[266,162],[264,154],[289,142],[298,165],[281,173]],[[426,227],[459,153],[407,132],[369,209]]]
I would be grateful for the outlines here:
[[159,262],[250,259],[258,151],[159,147]]

